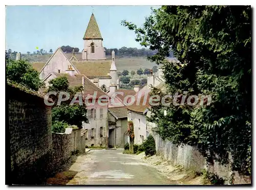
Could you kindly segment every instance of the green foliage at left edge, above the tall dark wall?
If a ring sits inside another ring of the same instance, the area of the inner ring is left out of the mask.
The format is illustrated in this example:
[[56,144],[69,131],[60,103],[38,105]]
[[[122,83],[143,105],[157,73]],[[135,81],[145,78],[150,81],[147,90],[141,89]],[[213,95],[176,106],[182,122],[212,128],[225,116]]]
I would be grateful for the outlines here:
[[44,83],[39,79],[39,73],[25,60],[7,59],[6,77],[35,91],[44,87]]

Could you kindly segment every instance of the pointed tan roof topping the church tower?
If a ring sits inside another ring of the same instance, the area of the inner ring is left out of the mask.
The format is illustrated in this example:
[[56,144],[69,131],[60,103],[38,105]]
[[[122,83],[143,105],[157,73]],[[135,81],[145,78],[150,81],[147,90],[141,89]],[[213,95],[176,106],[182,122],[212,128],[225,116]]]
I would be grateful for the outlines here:
[[102,39],[97,21],[92,13],[86,33],[83,36],[83,39]]

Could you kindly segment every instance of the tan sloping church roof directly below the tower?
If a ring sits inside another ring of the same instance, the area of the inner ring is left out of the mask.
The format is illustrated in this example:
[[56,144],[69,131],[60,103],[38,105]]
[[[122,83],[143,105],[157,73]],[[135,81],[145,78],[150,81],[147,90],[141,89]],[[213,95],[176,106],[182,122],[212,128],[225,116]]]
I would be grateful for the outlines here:
[[87,77],[110,77],[111,60],[72,61],[80,74]]

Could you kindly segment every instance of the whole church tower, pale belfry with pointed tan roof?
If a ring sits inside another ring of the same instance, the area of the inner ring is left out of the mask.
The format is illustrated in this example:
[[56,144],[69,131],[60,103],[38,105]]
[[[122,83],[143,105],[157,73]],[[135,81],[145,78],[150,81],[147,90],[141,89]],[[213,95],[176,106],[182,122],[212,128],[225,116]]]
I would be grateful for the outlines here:
[[98,24],[92,13],[86,33],[83,36],[82,60],[106,60]]

